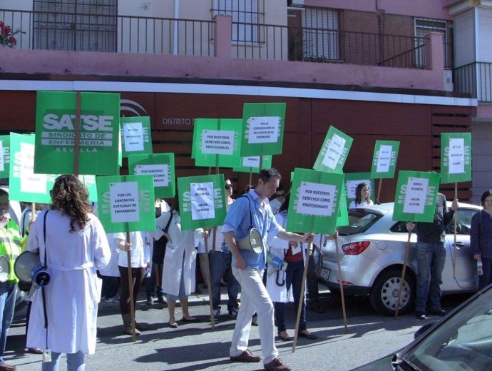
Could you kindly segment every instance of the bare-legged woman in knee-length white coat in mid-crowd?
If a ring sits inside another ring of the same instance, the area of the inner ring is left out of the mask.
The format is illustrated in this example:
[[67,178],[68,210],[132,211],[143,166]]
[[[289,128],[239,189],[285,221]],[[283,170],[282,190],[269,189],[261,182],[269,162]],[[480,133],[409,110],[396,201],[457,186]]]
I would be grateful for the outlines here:
[[[153,238],[158,240],[163,234],[163,228],[172,218],[168,229],[168,243],[166,245],[163,265],[163,292],[168,300],[169,326],[176,328],[175,302],[180,300],[183,311],[183,322],[199,322],[198,318],[191,317],[188,312],[188,296],[195,290],[195,267],[197,250],[193,230],[181,230],[181,219],[178,213],[178,197],[171,205],[171,213],[164,213],[155,220],[157,230]],[[172,216],[171,216],[172,215]]]

